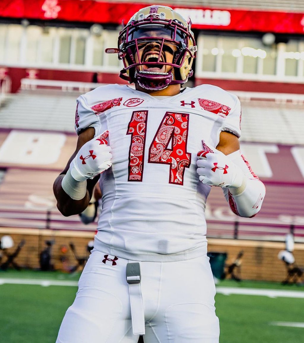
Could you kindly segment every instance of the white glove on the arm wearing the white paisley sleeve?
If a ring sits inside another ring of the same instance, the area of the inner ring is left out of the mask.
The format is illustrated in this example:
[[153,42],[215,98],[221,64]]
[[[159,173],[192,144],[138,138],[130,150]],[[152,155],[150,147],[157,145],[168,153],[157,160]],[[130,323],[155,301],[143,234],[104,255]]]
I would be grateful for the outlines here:
[[197,173],[203,184],[217,187],[238,188],[242,185],[244,173],[221,151],[209,147],[202,141],[203,150],[197,153]]

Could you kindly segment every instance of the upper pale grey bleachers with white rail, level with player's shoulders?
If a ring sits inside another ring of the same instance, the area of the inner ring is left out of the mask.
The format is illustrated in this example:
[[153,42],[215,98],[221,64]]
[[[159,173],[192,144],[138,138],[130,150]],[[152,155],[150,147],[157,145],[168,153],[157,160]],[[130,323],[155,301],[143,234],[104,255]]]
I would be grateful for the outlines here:
[[[101,84],[23,79],[21,85],[0,108],[1,128],[74,132],[76,98]],[[303,95],[232,93],[242,104],[241,141],[304,144]]]

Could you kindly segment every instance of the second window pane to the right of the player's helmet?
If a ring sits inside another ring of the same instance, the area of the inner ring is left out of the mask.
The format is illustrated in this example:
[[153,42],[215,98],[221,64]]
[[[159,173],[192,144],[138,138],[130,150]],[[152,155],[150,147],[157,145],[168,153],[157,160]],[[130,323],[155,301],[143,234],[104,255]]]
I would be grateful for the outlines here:
[[222,37],[219,54],[222,54],[222,72],[236,73],[239,38]]

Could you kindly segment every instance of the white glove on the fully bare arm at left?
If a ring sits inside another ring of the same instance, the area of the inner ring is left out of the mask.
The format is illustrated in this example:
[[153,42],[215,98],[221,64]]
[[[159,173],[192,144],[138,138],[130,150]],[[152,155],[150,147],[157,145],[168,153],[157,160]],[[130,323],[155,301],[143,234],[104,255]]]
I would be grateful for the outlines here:
[[70,172],[75,180],[92,179],[111,167],[111,148],[107,145],[106,140],[108,135],[109,131],[105,131],[100,136],[94,137],[83,144],[80,148],[70,163]]

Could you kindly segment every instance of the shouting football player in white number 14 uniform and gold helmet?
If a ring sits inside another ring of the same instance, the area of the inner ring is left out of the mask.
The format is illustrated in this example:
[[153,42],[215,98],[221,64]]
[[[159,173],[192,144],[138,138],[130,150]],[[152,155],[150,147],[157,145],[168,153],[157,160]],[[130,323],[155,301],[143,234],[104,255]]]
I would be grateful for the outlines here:
[[122,29],[121,78],[77,99],[78,143],[54,182],[65,216],[88,205],[100,175],[94,249],[57,343],[217,343],[204,209],[212,186],[252,217],[265,187],[239,150],[238,98],[192,75],[196,43],[169,7],[138,11]]

